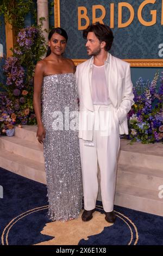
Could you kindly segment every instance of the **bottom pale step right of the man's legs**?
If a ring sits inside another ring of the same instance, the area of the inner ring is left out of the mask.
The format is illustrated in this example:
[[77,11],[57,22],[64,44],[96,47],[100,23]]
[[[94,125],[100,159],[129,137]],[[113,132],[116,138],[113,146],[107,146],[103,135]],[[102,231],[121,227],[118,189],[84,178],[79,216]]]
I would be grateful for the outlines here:
[[115,205],[163,216],[163,199],[158,194],[159,191],[118,184]]

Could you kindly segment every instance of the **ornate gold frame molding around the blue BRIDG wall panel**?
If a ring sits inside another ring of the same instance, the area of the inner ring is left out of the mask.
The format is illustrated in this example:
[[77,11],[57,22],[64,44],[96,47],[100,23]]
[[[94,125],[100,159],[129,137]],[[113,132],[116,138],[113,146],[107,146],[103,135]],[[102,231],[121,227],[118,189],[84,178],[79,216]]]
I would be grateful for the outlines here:
[[[54,0],[54,27],[60,27],[60,0]],[[73,59],[75,65],[87,59]],[[130,63],[131,67],[163,67],[163,59],[123,59]]]

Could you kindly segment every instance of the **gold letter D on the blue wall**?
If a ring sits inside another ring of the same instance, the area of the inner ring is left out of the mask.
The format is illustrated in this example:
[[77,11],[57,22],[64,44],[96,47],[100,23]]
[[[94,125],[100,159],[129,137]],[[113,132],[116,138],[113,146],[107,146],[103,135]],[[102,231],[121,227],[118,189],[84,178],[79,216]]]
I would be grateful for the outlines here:
[[[127,22],[122,23],[122,7],[127,7],[130,11],[130,18]],[[118,3],[118,28],[128,27],[134,20],[134,8],[126,2]]]

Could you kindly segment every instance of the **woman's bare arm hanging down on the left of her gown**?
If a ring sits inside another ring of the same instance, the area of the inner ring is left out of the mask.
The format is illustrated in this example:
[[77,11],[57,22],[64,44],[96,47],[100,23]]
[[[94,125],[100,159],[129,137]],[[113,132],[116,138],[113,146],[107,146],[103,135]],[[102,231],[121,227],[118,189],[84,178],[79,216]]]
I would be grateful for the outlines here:
[[34,75],[34,95],[33,95],[33,105],[35,110],[35,115],[37,119],[37,139],[40,143],[43,143],[43,138],[45,138],[45,129],[43,127],[41,118],[41,89],[43,81],[43,70],[44,63],[42,60],[36,64],[35,75]]

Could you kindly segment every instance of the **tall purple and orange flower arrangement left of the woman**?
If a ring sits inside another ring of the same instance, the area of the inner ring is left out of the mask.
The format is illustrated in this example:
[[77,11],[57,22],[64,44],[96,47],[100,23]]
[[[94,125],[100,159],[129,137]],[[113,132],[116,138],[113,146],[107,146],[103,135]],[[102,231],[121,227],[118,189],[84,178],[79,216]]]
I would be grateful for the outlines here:
[[45,52],[41,26],[20,29],[12,57],[5,60],[3,67],[7,81],[3,85],[6,93],[0,94],[0,134],[7,135],[7,130],[15,124],[36,124],[33,73]]

